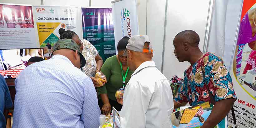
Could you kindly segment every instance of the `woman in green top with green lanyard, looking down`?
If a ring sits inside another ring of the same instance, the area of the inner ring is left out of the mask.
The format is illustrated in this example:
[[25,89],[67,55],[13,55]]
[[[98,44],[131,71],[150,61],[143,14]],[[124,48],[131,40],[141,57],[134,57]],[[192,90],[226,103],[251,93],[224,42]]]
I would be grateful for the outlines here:
[[99,107],[101,113],[107,115],[111,112],[112,107],[120,111],[122,105],[116,101],[116,91],[125,87],[131,78],[133,71],[129,70],[127,65],[127,57],[123,56],[128,44],[129,37],[125,36],[119,40],[117,45],[118,55],[114,55],[108,59],[101,67],[101,72],[106,75],[107,83],[98,88],[100,95]]

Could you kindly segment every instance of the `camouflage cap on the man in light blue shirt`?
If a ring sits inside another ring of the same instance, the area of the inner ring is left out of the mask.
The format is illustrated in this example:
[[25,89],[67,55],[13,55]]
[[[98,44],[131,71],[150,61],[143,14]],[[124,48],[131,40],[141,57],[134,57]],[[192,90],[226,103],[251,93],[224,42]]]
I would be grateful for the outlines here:
[[80,47],[76,44],[76,42],[72,39],[59,39],[52,48],[52,53],[56,50],[60,50],[60,49],[70,49],[70,50],[74,50],[78,52],[78,54],[80,55],[80,63],[81,66],[80,68],[84,67],[86,64],[86,60],[84,58],[84,56],[82,55],[81,51],[80,51]]

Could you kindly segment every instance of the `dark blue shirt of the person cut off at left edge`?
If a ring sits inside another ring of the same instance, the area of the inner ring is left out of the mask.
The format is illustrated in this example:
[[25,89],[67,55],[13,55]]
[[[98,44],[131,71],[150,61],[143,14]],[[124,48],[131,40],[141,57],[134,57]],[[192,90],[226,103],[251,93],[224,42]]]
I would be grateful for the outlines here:
[[0,74],[0,128],[6,127],[6,120],[4,118],[4,109],[9,109],[13,106],[12,98],[9,88],[5,82],[5,79]]

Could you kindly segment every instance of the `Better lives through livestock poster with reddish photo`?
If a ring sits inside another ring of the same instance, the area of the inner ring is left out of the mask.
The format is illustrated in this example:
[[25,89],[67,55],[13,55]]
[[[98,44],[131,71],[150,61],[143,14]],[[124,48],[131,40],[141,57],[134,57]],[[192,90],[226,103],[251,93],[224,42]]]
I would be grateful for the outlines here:
[[0,4],[0,38],[2,49],[38,47],[32,7]]

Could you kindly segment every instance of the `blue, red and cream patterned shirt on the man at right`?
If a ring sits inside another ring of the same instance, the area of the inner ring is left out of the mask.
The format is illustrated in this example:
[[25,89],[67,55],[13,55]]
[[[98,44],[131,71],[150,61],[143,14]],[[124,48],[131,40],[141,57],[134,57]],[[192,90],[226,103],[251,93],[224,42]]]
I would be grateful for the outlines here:
[[232,79],[223,60],[213,53],[206,53],[195,64],[185,70],[184,84],[178,89],[175,101],[179,103],[189,102],[191,106],[210,102],[207,86],[213,94],[215,102],[227,98],[236,98]]

